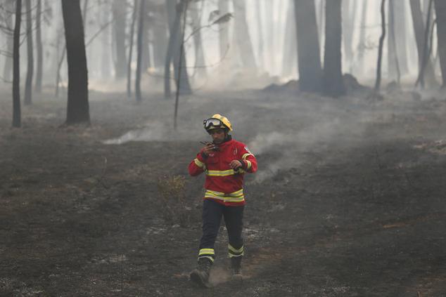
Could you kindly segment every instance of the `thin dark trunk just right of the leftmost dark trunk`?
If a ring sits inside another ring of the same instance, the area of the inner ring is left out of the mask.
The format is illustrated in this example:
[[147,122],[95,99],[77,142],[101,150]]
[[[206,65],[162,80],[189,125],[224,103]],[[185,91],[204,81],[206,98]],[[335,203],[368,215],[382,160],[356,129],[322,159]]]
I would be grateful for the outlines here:
[[25,0],[26,7],[26,48],[27,72],[25,81],[25,105],[32,103],[32,74],[34,73],[34,58],[32,54],[32,15],[31,0]]

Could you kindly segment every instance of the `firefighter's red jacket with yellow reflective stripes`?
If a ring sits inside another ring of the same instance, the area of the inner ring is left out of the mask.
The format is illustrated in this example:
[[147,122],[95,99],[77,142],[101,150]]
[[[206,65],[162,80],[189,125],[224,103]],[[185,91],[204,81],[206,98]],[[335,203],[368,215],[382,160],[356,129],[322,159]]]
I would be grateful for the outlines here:
[[[226,206],[245,205],[243,177],[246,172],[257,171],[257,160],[246,145],[231,138],[218,145],[218,148],[208,157],[199,152],[189,164],[189,174],[206,174],[204,199],[213,199]],[[233,160],[241,161],[243,166],[231,169],[229,163]]]

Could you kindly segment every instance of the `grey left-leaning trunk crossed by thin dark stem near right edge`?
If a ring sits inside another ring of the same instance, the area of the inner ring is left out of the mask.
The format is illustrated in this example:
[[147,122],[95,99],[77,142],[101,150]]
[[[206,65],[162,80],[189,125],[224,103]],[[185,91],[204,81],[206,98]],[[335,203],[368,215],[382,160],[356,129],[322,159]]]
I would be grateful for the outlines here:
[[[424,33],[425,27],[423,25],[423,15],[421,14],[421,6],[419,0],[410,0],[410,8],[412,11],[412,20],[414,25],[416,48],[418,50],[418,65],[421,69],[423,64],[423,48],[424,48]],[[433,67],[431,59],[426,61],[424,79],[428,86],[435,86],[437,82],[435,81],[435,74],[433,72]]]

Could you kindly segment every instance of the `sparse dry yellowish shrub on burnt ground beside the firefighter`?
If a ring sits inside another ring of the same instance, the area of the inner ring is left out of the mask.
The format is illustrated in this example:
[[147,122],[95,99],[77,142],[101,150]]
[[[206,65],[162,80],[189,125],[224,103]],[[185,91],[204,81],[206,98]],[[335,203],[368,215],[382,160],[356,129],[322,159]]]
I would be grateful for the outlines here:
[[163,217],[166,223],[187,226],[191,221],[190,202],[186,201],[186,179],[184,176],[163,176],[158,178]]

